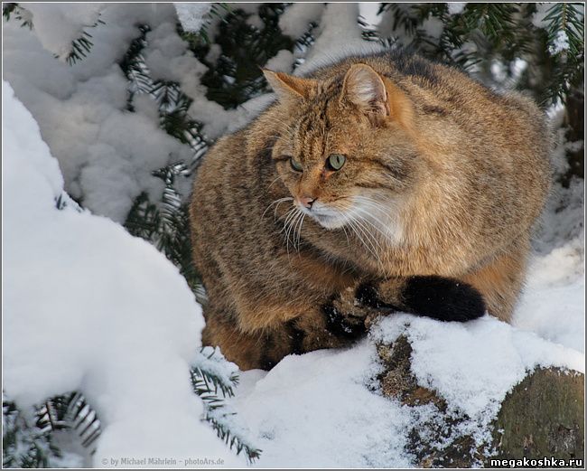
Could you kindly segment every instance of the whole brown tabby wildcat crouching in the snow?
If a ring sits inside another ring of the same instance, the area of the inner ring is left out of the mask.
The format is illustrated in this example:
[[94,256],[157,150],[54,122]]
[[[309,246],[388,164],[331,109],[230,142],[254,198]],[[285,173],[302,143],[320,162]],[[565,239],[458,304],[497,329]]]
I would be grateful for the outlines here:
[[203,343],[268,369],[374,311],[508,321],[551,174],[532,100],[402,52],[265,74],[277,100],[194,183]]

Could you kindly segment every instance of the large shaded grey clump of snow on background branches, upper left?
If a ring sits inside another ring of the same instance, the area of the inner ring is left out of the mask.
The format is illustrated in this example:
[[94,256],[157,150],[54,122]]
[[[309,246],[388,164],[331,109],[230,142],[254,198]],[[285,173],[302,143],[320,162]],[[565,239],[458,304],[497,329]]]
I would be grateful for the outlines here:
[[[125,42],[137,35],[127,26],[129,17],[141,24],[153,16],[154,24],[166,24],[173,15],[171,5],[108,5],[101,16],[106,24],[92,30],[92,51],[73,67],[55,61],[36,29],[3,25],[4,78],[39,123],[59,161],[65,190],[114,221],[125,221],[142,191],[157,201],[163,182],[154,170],[191,157],[190,148],[167,135],[152,113],[124,109],[127,80],[116,64]],[[155,51],[161,49],[158,42]]]

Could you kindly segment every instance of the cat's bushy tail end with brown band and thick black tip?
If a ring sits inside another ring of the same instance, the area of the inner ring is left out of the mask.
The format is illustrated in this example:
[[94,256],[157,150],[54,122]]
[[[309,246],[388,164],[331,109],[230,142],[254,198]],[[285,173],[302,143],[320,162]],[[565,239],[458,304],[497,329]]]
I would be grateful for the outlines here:
[[438,276],[366,283],[359,286],[355,296],[361,305],[382,312],[403,311],[441,321],[466,322],[486,311],[485,301],[475,287]]

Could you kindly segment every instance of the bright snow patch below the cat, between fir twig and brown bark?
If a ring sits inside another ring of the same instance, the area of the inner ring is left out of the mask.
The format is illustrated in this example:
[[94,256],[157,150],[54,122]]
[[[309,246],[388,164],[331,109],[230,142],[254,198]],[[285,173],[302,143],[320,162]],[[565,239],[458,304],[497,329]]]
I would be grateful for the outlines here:
[[241,373],[234,401],[256,431],[260,467],[410,466],[402,406],[368,391],[372,344],[288,356],[271,372]]

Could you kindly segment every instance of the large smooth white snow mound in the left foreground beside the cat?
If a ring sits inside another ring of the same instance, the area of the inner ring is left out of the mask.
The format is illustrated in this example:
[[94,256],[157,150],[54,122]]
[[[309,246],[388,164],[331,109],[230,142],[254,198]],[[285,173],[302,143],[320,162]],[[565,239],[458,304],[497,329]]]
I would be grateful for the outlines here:
[[6,82],[3,123],[5,393],[26,408],[83,391],[103,427],[96,466],[121,457],[242,466],[200,421],[190,365],[203,318],[177,268],[106,218],[55,207],[59,165]]

